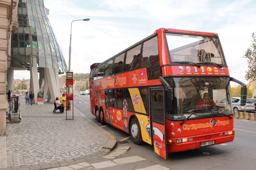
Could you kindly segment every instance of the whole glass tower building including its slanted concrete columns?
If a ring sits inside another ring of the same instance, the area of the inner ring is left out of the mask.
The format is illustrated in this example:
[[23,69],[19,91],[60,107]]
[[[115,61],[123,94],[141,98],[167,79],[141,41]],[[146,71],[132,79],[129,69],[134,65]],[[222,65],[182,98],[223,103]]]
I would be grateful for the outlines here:
[[[30,91],[44,90],[44,101],[60,96],[59,74],[67,65],[51,28],[43,0],[20,0],[18,4],[18,30],[12,34],[11,63],[8,80],[14,70],[30,70]],[[39,72],[39,79],[38,79]],[[13,84],[8,81],[7,89]],[[37,96],[33,103],[37,103]]]

